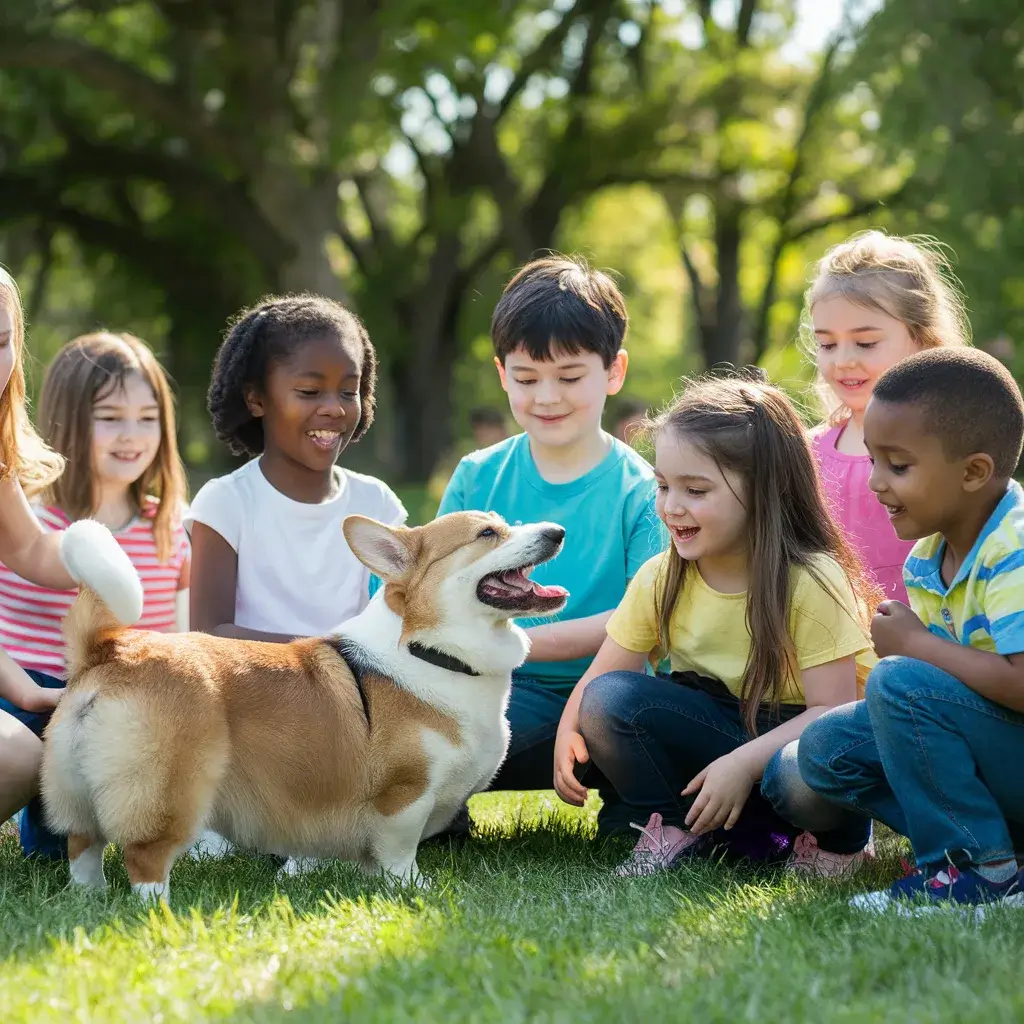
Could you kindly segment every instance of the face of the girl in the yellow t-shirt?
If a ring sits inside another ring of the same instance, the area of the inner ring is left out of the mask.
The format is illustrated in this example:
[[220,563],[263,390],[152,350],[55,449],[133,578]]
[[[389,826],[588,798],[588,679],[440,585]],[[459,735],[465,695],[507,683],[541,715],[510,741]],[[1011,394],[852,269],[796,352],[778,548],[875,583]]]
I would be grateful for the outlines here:
[[668,429],[655,440],[654,476],[657,514],[680,558],[697,561],[746,551],[739,476],[723,471],[691,440]]

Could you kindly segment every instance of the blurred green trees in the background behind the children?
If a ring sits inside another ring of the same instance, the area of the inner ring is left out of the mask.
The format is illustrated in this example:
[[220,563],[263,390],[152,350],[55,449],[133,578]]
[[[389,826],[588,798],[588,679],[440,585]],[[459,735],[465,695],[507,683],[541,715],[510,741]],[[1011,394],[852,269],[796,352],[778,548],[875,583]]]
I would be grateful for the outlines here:
[[[164,357],[198,481],[226,319],[350,302],[382,356],[354,465],[420,483],[501,404],[487,325],[547,250],[613,267],[631,396],[798,382],[809,265],[863,226],[955,250],[976,340],[1024,329],[1016,0],[5,0],[0,261],[32,349]],[[1017,368],[1024,369],[1024,368]]]

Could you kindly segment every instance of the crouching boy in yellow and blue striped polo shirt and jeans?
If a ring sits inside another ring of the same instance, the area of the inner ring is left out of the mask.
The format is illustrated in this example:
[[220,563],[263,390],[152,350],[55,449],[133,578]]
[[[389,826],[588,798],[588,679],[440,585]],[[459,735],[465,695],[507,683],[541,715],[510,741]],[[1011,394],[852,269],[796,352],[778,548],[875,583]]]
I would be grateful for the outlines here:
[[808,728],[800,770],[854,827],[913,845],[918,870],[856,906],[998,900],[1020,890],[1024,831],[1024,402],[984,352],[921,352],[879,380],[864,440],[871,488],[918,542],[910,607],[880,606],[866,699]]

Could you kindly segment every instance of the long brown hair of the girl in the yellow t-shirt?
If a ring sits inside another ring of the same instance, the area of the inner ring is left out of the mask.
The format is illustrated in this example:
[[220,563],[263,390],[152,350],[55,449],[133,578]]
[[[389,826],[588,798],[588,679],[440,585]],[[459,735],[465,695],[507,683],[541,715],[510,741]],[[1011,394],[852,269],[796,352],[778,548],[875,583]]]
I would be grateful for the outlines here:
[[[743,724],[754,735],[759,708],[768,703],[777,716],[782,690],[799,672],[790,634],[794,567],[807,569],[826,593],[850,607],[849,597],[836,593],[815,564],[822,555],[835,559],[853,590],[857,607],[851,614],[865,637],[867,610],[881,594],[828,512],[804,426],[778,388],[751,375],[693,381],[648,426],[655,434],[668,430],[685,438],[742,481],[736,497],[746,509],[751,651],[740,700]],[[688,571],[689,562],[670,546],[654,596],[663,651]]]

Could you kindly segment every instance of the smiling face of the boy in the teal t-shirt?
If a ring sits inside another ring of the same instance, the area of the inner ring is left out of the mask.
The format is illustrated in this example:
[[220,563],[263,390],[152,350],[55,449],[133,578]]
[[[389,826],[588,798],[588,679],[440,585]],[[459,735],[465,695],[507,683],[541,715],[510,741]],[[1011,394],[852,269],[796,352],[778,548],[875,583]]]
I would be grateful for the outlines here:
[[596,352],[553,348],[551,355],[532,359],[520,346],[504,365],[495,362],[516,423],[547,447],[566,447],[600,430],[605,399],[623,386],[627,355],[620,351],[607,369]]

